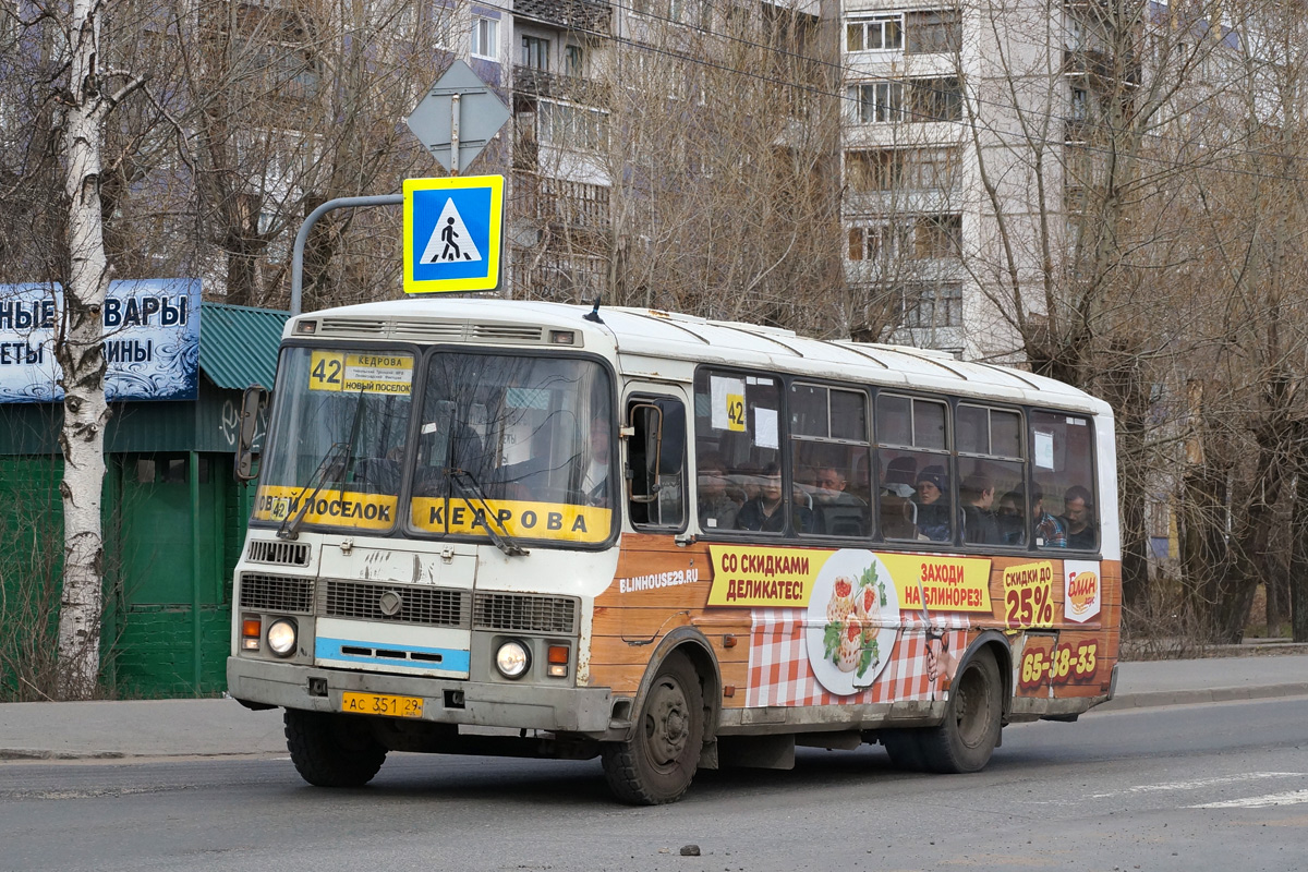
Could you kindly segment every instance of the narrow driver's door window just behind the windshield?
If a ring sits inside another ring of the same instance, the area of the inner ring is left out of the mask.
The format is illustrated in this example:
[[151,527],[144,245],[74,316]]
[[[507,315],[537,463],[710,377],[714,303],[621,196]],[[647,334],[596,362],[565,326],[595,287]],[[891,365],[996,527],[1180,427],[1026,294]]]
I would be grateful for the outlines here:
[[672,397],[628,403],[627,505],[633,527],[685,528],[685,407]]

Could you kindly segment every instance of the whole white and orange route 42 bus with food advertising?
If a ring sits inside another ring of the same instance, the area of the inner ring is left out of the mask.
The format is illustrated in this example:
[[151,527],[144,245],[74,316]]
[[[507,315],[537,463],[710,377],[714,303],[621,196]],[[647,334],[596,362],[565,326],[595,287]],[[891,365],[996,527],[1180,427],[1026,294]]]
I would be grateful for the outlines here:
[[268,408],[228,684],[313,784],[390,750],[600,757],[634,804],[797,745],[974,771],[1112,697],[1113,420],[1066,384],[405,299],[290,319]]

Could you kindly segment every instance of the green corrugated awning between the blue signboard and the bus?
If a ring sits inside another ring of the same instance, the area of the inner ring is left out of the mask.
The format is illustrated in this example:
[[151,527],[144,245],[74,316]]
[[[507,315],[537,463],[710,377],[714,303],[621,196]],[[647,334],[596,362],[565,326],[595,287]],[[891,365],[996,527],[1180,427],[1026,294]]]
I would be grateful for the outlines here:
[[203,303],[200,371],[221,388],[243,391],[262,384],[272,390],[288,318],[290,312],[271,309]]

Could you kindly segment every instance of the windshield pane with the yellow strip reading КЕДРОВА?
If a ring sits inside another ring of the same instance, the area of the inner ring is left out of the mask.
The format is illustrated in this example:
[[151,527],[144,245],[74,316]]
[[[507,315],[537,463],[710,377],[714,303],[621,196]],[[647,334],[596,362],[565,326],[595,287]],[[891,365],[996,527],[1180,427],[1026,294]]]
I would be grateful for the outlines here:
[[530,539],[608,539],[612,387],[599,363],[438,353],[424,384],[409,506],[417,532],[476,535],[489,524]]

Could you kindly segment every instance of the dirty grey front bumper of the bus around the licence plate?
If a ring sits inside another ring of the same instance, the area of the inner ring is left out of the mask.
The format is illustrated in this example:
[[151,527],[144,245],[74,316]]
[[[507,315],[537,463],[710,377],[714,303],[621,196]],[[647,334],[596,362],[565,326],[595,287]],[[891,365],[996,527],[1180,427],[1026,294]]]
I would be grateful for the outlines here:
[[[317,680],[314,694],[310,679]],[[228,658],[228,694],[242,702],[340,711],[345,692],[421,697],[421,719],[433,723],[548,729],[591,739],[606,736],[612,710],[607,688],[485,684]]]

